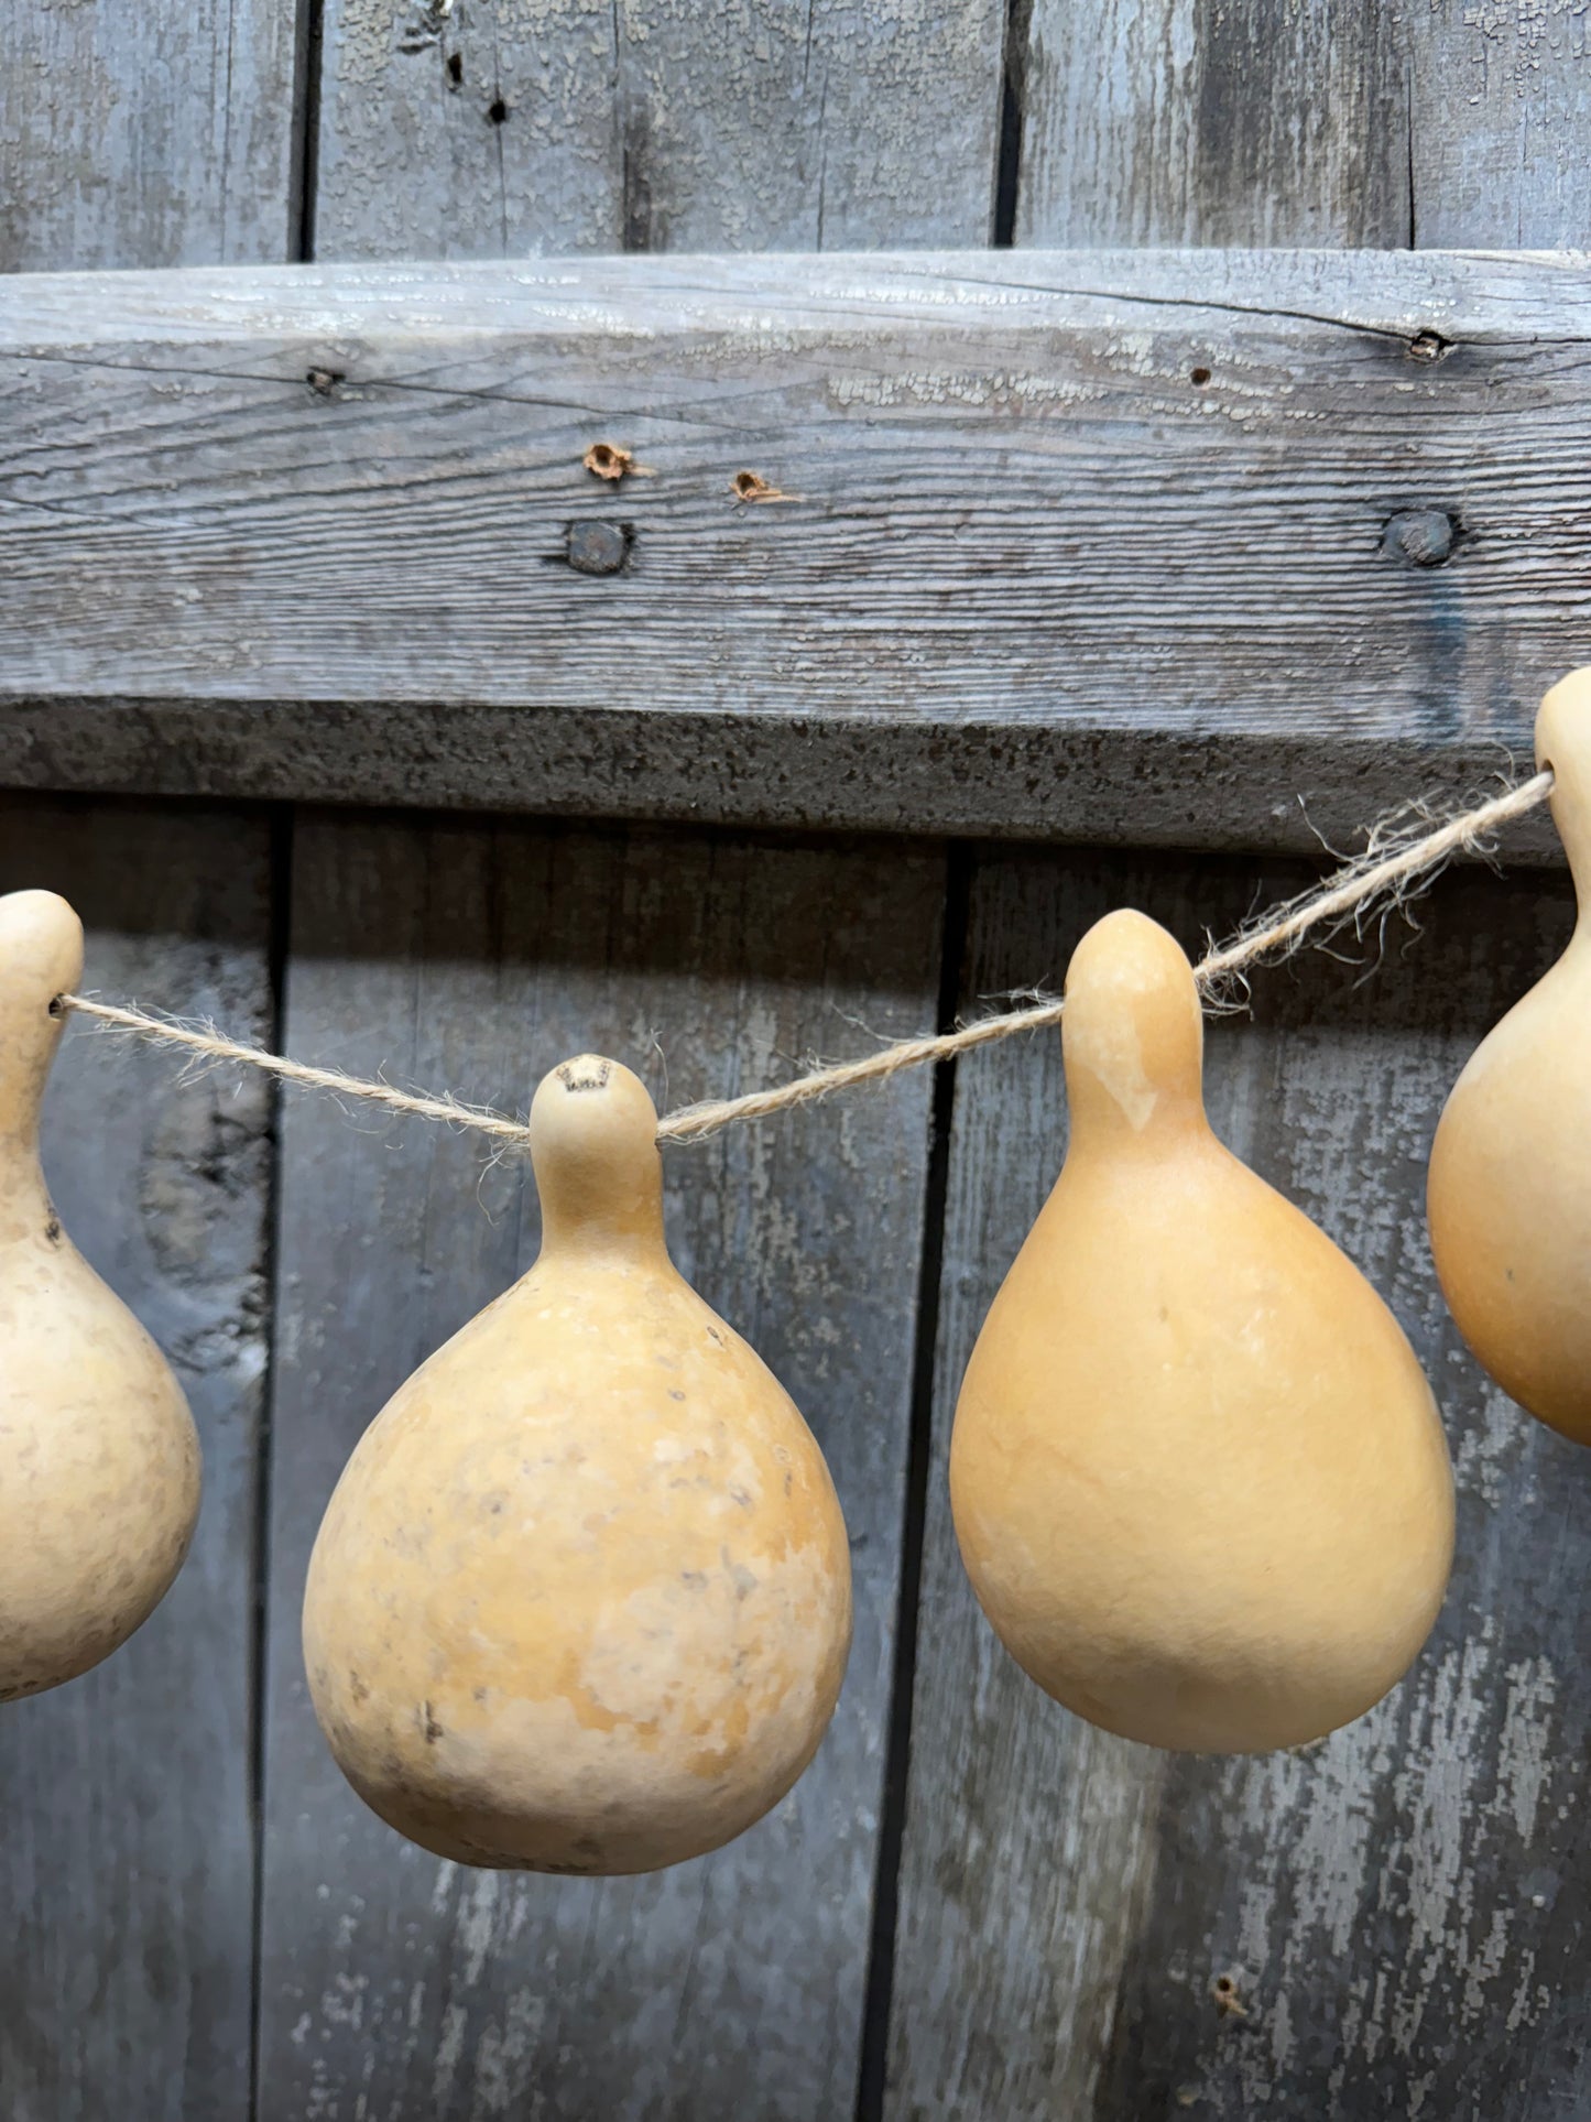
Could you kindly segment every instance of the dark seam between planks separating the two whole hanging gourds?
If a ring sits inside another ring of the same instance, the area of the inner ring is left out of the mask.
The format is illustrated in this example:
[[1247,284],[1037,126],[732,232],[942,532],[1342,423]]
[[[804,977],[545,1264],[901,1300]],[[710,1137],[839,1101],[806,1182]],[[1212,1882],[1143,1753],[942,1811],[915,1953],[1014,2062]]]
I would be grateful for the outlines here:
[[[944,853],[944,925],[940,932],[940,1004],[936,1029],[955,1031],[972,910],[972,849],[950,840]],[[895,1659],[889,1683],[889,1736],[885,1744],[885,1799],[878,1816],[872,1937],[861,2010],[855,2122],[878,2122],[885,2111],[889,2069],[889,2012],[895,1993],[895,1925],[899,1916],[899,1861],[906,1840],[906,1789],[912,1753],[912,1693],[916,1685],[916,1623],[923,1594],[923,1536],[929,1471],[933,1464],[933,1377],[940,1341],[940,1280],[944,1271],[944,1214],[950,1193],[950,1120],[957,1063],[933,1069],[933,1106],[923,1188],[923,1256],[916,1284],[916,1339],[912,1347],[912,1420],[906,1445],[902,1502],[899,1594]]]

